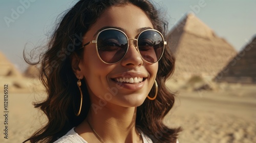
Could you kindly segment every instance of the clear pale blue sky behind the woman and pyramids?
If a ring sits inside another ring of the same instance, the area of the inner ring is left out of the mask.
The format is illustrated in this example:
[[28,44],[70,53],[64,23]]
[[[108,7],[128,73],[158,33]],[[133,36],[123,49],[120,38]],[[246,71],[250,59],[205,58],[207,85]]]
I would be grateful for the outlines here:
[[[57,16],[77,0],[0,1],[0,51],[20,70],[25,44],[44,44]],[[171,29],[188,12],[194,13],[217,36],[241,50],[256,34],[256,0],[154,0],[169,21]]]

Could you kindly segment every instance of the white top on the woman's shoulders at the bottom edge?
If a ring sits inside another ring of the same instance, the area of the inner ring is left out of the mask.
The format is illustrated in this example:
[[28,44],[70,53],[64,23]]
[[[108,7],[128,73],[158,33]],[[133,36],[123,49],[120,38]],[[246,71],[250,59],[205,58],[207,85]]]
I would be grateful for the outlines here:
[[[142,131],[140,131],[140,134],[143,139],[143,143],[153,143],[151,138],[145,135]],[[77,134],[74,128],[72,128],[67,134],[63,135],[53,143],[88,143],[88,142],[84,140],[79,134]],[[179,141],[177,140],[176,143],[179,143]]]

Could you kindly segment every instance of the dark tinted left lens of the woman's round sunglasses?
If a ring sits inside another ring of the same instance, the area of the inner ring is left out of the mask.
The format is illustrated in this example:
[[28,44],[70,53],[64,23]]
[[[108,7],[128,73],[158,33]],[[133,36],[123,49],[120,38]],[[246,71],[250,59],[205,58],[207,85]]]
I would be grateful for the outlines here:
[[97,50],[102,61],[116,63],[127,51],[127,38],[117,30],[102,31],[97,39]]

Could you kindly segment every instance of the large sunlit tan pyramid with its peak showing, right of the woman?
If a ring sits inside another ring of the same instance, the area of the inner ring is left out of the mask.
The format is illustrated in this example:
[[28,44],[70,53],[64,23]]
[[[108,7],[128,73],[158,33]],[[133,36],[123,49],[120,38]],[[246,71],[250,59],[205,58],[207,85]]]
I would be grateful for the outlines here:
[[174,79],[214,78],[237,51],[206,24],[188,14],[168,34],[176,58]]

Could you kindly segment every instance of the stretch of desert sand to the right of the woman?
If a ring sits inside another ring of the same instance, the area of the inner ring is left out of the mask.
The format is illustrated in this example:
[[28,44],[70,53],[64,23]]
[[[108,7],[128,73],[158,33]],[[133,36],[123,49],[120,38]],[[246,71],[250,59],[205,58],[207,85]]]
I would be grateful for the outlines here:
[[180,91],[165,121],[183,128],[180,142],[256,142],[256,86],[204,93]]

